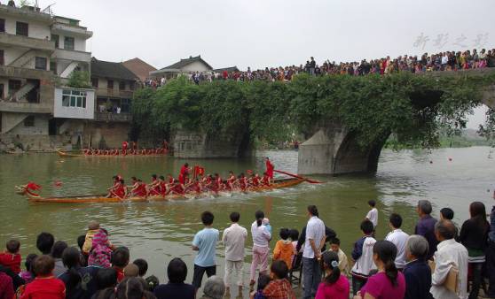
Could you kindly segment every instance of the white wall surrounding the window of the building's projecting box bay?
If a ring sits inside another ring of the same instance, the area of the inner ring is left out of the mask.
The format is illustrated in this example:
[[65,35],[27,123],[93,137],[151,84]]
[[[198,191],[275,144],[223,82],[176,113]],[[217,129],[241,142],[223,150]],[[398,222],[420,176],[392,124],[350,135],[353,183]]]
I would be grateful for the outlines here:
[[[62,105],[62,93],[64,89],[86,92],[86,108],[65,107]],[[94,119],[95,116],[95,91],[82,88],[55,88],[55,101],[53,116],[61,119]]]

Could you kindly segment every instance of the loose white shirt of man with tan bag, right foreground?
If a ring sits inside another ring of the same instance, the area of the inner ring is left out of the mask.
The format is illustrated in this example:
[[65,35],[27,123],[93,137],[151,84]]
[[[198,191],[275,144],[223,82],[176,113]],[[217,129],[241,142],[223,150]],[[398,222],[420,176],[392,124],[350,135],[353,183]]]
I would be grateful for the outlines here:
[[[435,272],[431,276],[429,292],[436,299],[468,298],[468,249],[454,239],[440,242],[435,252]],[[459,270],[459,294],[443,286],[452,266]]]

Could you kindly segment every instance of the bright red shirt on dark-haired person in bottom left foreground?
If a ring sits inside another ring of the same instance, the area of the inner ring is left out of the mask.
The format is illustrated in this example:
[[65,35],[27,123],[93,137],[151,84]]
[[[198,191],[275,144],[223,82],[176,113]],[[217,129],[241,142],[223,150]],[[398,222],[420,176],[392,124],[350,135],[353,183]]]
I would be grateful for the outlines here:
[[66,285],[64,281],[50,277],[36,277],[26,285],[21,299],[65,299]]

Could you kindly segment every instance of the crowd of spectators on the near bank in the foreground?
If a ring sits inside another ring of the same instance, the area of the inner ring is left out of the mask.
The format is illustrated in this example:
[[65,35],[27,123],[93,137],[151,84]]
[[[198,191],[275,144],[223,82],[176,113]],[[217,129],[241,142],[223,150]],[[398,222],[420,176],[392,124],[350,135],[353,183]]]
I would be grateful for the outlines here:
[[[470,203],[470,218],[458,229],[450,208],[442,209],[437,220],[431,216],[431,203],[420,200],[413,234],[405,233],[402,217],[392,213],[389,234],[377,240],[379,213],[373,200],[368,205],[370,211],[359,226],[362,235],[350,258],[316,206],[308,206],[308,222],[301,233],[279,228],[273,251],[273,227],[263,211],[256,211],[250,227],[250,298],[293,299],[294,287],[301,284],[303,298],[475,299],[480,288],[484,297],[495,298],[495,206],[489,222],[484,204]],[[52,234],[39,234],[39,253],[27,255],[23,267],[21,244],[12,239],[0,254],[0,299],[193,299],[200,297],[205,273],[208,279],[200,298],[230,297],[232,284],[243,294],[248,288],[243,266],[249,233],[239,224],[240,213],[231,213],[232,224],[222,235],[214,227],[213,213],[204,211],[200,219],[204,228],[192,237],[197,252],[194,264],[188,267],[173,258],[167,265],[168,282],[162,284],[153,275],[146,277],[145,259],[131,262],[130,249],[110,242],[97,221],[91,221],[86,234],[77,238],[78,248],[55,242]],[[216,272],[218,242],[225,250],[223,277]],[[191,284],[185,282],[188,268],[193,269]]]

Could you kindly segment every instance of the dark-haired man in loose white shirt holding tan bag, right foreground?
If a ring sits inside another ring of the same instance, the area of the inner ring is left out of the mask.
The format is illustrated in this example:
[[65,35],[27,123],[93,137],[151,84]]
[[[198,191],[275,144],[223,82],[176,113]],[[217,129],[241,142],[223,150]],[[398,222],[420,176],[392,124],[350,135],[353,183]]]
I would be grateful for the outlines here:
[[[438,240],[435,252],[435,272],[431,277],[430,292],[436,299],[468,298],[468,249],[456,242],[456,227],[451,220],[442,220],[435,225],[435,236]],[[444,283],[449,271],[456,267],[459,271],[458,294],[445,288]]]

